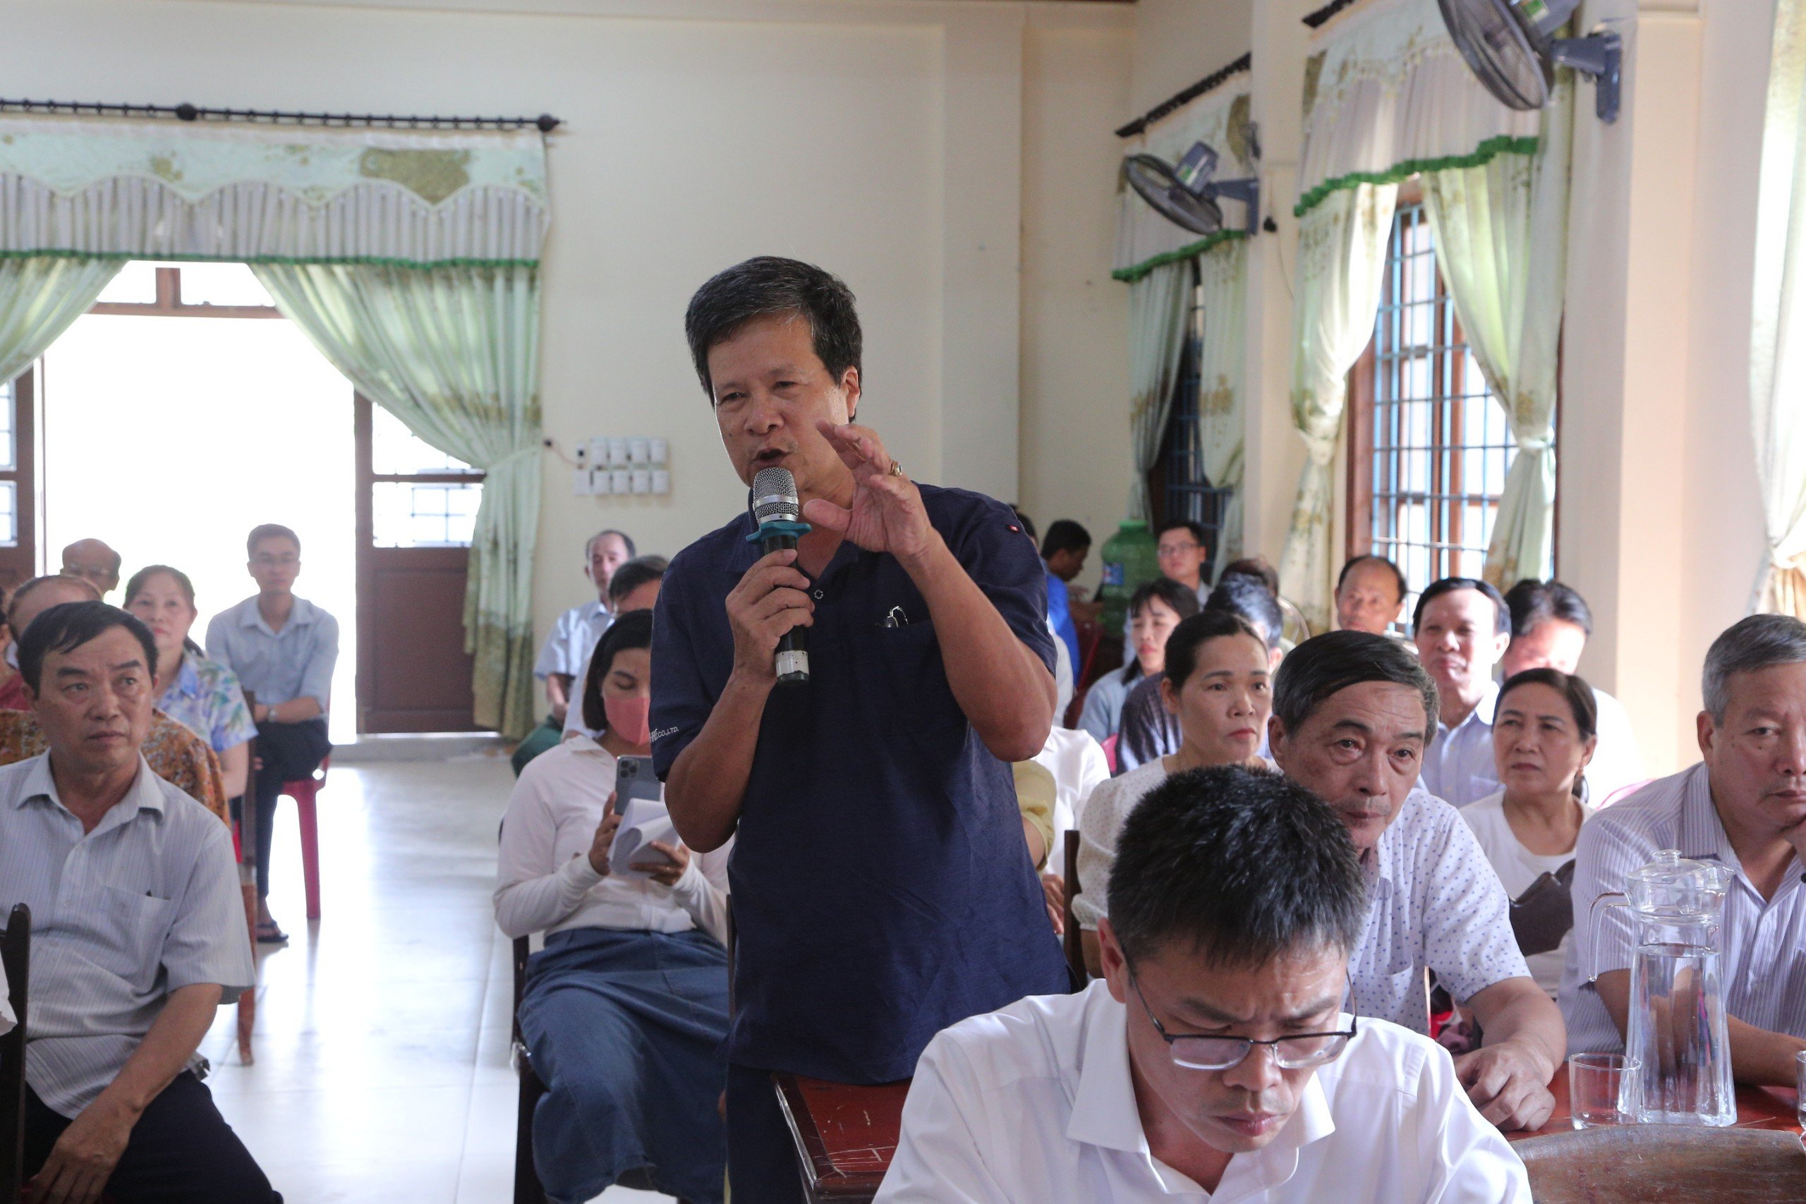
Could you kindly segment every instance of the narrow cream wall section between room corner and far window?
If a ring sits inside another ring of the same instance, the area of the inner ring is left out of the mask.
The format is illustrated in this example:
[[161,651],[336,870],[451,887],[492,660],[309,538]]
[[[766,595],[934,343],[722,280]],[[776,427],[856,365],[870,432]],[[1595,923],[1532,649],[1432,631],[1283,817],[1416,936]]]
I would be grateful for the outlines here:
[[[1020,500],[1091,531],[1080,583],[1129,505],[1127,296],[1111,280],[1131,31],[1029,22],[1022,70]],[[1103,182],[1102,188],[1096,184]]]

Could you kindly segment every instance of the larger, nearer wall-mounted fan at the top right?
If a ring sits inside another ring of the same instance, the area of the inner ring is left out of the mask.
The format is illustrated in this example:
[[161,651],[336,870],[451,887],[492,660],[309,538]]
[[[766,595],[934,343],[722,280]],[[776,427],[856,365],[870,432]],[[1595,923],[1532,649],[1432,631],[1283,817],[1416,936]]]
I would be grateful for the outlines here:
[[1512,108],[1542,108],[1555,88],[1555,65],[1595,83],[1598,119],[1618,119],[1624,42],[1615,32],[1557,38],[1580,0],[1436,0],[1461,58],[1486,90]]

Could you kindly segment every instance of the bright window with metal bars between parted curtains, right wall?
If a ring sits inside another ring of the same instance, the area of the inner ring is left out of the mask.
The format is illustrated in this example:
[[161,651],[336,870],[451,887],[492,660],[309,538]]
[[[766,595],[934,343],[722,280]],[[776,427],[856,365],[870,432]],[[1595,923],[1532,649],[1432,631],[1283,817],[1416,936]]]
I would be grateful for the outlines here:
[[1385,556],[1416,590],[1477,578],[1517,455],[1468,350],[1421,204],[1398,206],[1373,343],[1349,379],[1349,554]]

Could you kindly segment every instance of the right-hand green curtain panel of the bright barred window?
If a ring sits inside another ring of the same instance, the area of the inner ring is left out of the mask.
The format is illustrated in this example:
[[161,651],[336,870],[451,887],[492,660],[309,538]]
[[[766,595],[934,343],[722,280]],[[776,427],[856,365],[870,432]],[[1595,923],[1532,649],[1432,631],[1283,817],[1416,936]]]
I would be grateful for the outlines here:
[[1486,547],[1501,590],[1555,570],[1555,392],[1568,273],[1573,83],[1542,110],[1535,155],[1423,171],[1436,264],[1517,455]]

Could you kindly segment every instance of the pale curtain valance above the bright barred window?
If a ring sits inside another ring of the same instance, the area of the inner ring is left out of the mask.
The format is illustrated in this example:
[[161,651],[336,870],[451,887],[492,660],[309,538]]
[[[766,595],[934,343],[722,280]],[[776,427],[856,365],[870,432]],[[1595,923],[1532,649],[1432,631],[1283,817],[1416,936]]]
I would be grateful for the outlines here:
[[1371,0],[1313,38],[1295,215],[1338,188],[1535,153],[1537,123],[1474,78],[1436,0]]

